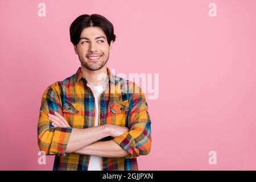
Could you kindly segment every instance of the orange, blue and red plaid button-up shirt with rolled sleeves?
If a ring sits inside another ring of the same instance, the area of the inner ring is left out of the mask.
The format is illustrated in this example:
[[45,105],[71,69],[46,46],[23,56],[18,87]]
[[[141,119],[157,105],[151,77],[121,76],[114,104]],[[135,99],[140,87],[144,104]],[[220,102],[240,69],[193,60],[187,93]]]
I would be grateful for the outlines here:
[[[151,121],[148,105],[142,89],[132,81],[117,77],[107,68],[108,89],[101,93],[99,100],[99,125],[127,127],[113,139],[129,152],[123,158],[101,158],[102,170],[138,170],[137,157],[147,155],[151,148]],[[71,127],[53,127],[48,113],[62,114]],[[53,170],[88,170],[90,155],[75,152],[65,153],[72,129],[94,126],[94,96],[87,86],[81,68],[76,74],[48,86],[42,97],[38,121],[38,145],[45,155],[55,155]]]

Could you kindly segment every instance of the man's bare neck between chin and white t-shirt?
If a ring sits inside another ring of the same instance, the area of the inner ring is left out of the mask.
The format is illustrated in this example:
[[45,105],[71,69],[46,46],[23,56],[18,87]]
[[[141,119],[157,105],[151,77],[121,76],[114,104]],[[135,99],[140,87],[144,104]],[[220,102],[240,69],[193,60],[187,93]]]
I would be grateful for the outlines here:
[[104,65],[104,67],[97,71],[91,71],[85,68],[83,65],[81,65],[81,72],[82,75],[84,75],[84,77],[86,78],[88,84],[92,86],[102,85],[104,84],[104,82],[108,80],[108,71],[106,68],[106,64]]

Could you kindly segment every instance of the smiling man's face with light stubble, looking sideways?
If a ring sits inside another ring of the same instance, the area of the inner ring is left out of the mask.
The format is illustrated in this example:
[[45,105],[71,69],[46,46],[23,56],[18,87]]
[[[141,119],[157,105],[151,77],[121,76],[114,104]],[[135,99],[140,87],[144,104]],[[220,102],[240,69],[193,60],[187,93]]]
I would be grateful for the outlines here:
[[108,44],[104,31],[100,27],[87,27],[82,30],[80,41],[74,46],[79,60],[86,69],[96,71],[109,60],[113,40]]

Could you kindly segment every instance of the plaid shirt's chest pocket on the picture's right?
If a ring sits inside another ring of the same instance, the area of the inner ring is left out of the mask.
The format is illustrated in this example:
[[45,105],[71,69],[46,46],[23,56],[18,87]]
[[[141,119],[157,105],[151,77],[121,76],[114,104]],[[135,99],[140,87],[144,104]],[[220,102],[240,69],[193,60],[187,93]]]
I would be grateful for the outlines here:
[[110,104],[112,114],[112,125],[126,126],[127,113],[129,111],[128,100]]

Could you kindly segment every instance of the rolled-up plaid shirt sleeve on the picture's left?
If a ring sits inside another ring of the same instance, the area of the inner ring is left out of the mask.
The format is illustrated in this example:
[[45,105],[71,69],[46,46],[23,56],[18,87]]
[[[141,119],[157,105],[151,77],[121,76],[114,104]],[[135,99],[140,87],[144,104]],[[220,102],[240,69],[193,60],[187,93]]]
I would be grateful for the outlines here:
[[38,145],[44,155],[67,155],[68,140],[72,127],[53,127],[48,119],[48,113],[54,111],[62,114],[61,98],[53,86],[48,86],[42,96],[38,121]]

